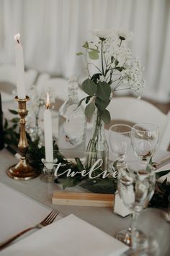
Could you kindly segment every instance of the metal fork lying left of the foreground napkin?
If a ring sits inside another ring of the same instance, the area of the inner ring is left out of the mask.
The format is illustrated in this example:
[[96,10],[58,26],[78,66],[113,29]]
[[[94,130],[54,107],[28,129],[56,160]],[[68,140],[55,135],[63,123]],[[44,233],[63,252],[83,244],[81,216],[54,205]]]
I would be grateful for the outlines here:
[[44,226],[49,225],[50,223],[52,223],[55,218],[58,216],[58,211],[56,210],[52,210],[48,216],[41,221],[40,223],[38,223],[35,226],[30,227],[29,229],[24,229],[23,231],[19,232],[18,234],[12,236],[10,239],[6,240],[5,242],[0,244],[0,249],[4,249],[4,247],[6,247],[6,245],[10,244],[11,242],[13,242],[15,239],[17,239],[19,236],[22,236],[24,233],[26,233],[27,231],[30,231],[32,229],[42,229]]

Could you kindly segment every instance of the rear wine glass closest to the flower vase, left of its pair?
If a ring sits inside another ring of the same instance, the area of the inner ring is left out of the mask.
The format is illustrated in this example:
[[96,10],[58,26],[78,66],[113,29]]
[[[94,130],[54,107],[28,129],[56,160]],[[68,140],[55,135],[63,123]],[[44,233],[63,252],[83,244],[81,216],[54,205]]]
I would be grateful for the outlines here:
[[128,124],[114,124],[109,128],[109,145],[113,155],[117,158],[117,168],[126,166],[125,158],[131,144],[131,130],[132,127]]

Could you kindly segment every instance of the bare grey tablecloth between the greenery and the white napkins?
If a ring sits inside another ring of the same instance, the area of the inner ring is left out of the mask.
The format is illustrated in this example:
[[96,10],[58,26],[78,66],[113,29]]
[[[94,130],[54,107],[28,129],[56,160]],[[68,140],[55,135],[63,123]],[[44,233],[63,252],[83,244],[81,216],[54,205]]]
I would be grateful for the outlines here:
[[[162,158],[169,153],[159,152],[156,158]],[[121,229],[126,229],[130,224],[130,217],[121,218],[113,213],[112,208],[95,208],[95,207],[81,207],[81,206],[66,206],[66,205],[52,205],[51,195],[57,190],[61,189],[58,184],[46,184],[40,181],[40,176],[29,181],[17,181],[9,178],[6,175],[6,169],[17,163],[16,158],[6,149],[0,151],[0,181],[6,186],[16,189],[23,195],[26,195],[36,202],[45,205],[47,208],[57,209],[63,216],[68,216],[70,213],[75,214],[79,218],[84,219],[94,226],[97,226],[102,231],[105,231],[111,236],[115,236]],[[74,188],[74,191],[76,188]],[[5,196],[5,195],[4,195]],[[143,210],[147,213],[148,218],[154,213],[154,209],[148,208]],[[168,229],[165,230],[165,236],[170,236],[170,225],[167,223]],[[168,251],[170,252],[170,244]],[[169,253],[167,254],[169,255]],[[163,255],[161,255],[163,256]]]

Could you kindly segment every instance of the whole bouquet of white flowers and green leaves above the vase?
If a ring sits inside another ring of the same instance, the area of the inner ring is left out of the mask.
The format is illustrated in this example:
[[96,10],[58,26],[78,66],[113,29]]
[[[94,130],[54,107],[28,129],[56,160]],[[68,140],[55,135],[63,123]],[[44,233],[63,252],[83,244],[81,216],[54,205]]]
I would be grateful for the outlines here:
[[[88,118],[97,108],[101,119],[109,123],[110,115],[106,108],[112,99],[112,93],[130,89],[139,96],[145,86],[143,67],[127,46],[127,42],[133,40],[133,33],[120,29],[93,30],[91,33],[98,40],[86,41],[83,45],[85,52],[77,54],[85,57],[89,73],[89,77],[82,83],[82,89],[88,96],[80,103],[86,102],[85,114]],[[91,74],[91,65],[96,69],[94,74]]]

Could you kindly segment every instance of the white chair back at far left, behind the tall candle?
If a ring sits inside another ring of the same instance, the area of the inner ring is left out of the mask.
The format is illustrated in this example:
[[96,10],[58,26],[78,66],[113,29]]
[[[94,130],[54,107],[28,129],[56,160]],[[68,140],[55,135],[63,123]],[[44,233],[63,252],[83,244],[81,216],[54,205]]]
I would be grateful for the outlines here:
[[[35,83],[37,77],[37,70],[27,69],[25,72],[25,85],[27,90]],[[16,90],[16,72],[14,64],[0,65],[0,90],[2,101],[12,101],[12,91]]]

